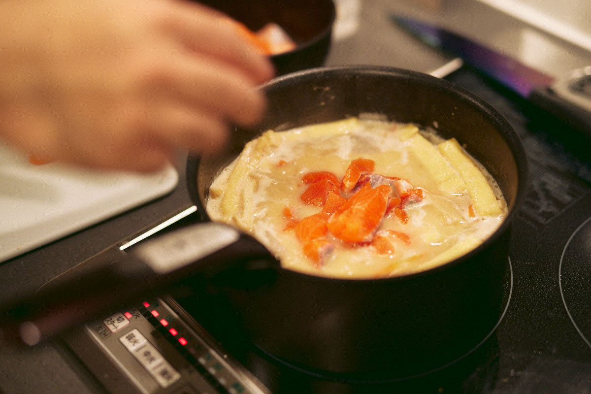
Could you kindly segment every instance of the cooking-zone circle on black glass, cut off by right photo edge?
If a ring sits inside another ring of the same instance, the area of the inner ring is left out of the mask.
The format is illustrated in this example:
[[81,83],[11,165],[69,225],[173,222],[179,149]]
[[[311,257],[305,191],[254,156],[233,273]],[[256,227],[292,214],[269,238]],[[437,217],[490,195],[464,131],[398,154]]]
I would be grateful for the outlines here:
[[[565,256],[569,257],[570,253],[574,253],[575,254],[574,257],[577,257],[577,255],[579,256],[579,259],[574,259],[574,261],[577,263],[577,266],[584,265],[583,264],[584,261],[582,261],[582,256],[591,256],[589,253],[584,253],[584,252],[586,252],[586,250],[584,250],[585,247],[587,247],[587,249],[591,249],[591,243],[587,243],[587,245],[585,245],[583,242],[584,237],[582,239],[581,239],[581,237],[578,237],[577,239],[575,239],[575,237],[577,235],[583,236],[584,233],[591,233],[591,227],[587,226],[590,222],[591,222],[591,217],[589,217],[589,219],[587,219],[583,223],[581,223],[580,226],[577,227],[577,229],[574,230],[574,232],[571,234],[571,236],[569,237],[569,240],[567,240],[567,242],[566,242],[566,245],[564,245],[562,255],[560,256],[560,265],[558,265],[558,286],[560,286],[560,297],[562,298],[564,308],[566,308],[566,313],[569,315],[569,319],[570,319],[571,323],[573,323],[574,328],[577,330],[579,335],[583,338],[583,340],[585,341],[585,343],[589,347],[591,347],[591,341],[589,341],[589,339],[585,336],[585,333],[583,333],[583,330],[579,327],[579,324],[576,323],[575,318],[573,316],[573,313],[576,312],[577,309],[573,308],[573,310],[571,311],[569,309],[569,305],[567,305],[566,298],[564,297],[565,290],[566,290],[567,294],[570,294],[570,289],[573,289],[578,296],[577,298],[589,299],[589,298],[581,297],[581,295],[583,295],[585,291],[589,292],[589,286],[588,286],[589,282],[586,280],[582,280],[582,278],[579,275],[571,276],[567,272],[565,272],[566,278],[563,278],[563,268],[567,268],[567,267],[570,268],[570,266],[567,265],[567,263],[569,263],[569,259],[565,260]],[[587,238],[587,239],[589,239],[589,238]],[[573,242],[573,240],[575,242]],[[577,240],[579,242],[576,242]],[[571,248],[569,248],[569,246],[571,246]],[[588,252],[588,250],[587,250],[587,252]],[[576,268],[576,266],[574,268]],[[582,270],[579,270],[579,271],[577,271],[577,273],[581,274],[584,272]],[[568,279],[568,281],[567,281],[567,279]],[[568,285],[567,285],[567,283],[568,283]],[[584,286],[584,284],[587,284],[587,286]],[[577,288],[577,285],[582,286],[582,287]],[[569,299],[569,301],[570,301],[570,299]],[[569,304],[570,304],[570,302],[569,302]],[[577,304],[572,305],[571,304],[571,307],[579,307],[579,310],[580,310],[580,308],[583,308],[583,305],[584,305],[584,301],[583,301],[583,304],[579,304],[579,305],[577,305]],[[581,314],[579,313],[579,315],[581,315]],[[587,315],[587,318],[588,317],[589,317],[589,315]],[[584,323],[584,322],[579,321],[579,323]],[[588,327],[589,327],[589,323],[587,323],[587,329],[588,329]]]

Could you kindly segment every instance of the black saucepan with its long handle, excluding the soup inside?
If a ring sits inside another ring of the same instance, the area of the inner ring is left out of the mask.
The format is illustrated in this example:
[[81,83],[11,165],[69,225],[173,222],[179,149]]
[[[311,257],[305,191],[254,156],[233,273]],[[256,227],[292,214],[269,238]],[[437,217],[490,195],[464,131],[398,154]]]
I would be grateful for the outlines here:
[[[261,87],[269,108],[256,129],[238,129],[215,157],[189,157],[187,183],[205,223],[145,242],[130,255],[46,286],[0,311],[5,343],[38,343],[85,318],[189,282],[223,299],[213,319],[230,321],[262,351],[311,371],[409,376],[465,354],[499,320],[509,229],[524,198],[525,154],[509,123],[454,84],[374,66],[310,69]],[[249,236],[207,222],[216,174],[267,129],[283,131],[379,113],[455,137],[495,177],[509,213],[478,248],[445,265],[384,279],[334,279],[283,269]],[[212,291],[213,289],[213,291]]]

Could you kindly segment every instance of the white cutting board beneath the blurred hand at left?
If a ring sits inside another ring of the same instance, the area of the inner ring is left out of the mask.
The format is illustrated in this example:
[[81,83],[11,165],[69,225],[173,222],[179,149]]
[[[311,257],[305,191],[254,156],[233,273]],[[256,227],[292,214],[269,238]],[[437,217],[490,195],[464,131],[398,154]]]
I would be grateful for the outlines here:
[[0,144],[0,262],[173,190],[178,172],[92,171],[28,156]]

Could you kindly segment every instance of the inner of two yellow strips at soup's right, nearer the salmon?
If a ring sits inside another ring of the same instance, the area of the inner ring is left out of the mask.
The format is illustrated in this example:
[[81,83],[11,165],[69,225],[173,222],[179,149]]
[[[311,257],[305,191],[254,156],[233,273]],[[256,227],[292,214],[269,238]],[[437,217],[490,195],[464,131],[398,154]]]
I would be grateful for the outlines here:
[[441,155],[435,145],[431,144],[419,133],[410,138],[410,148],[414,155],[426,168],[427,172],[439,185],[440,190],[447,193],[460,194],[466,190],[466,185],[456,170]]

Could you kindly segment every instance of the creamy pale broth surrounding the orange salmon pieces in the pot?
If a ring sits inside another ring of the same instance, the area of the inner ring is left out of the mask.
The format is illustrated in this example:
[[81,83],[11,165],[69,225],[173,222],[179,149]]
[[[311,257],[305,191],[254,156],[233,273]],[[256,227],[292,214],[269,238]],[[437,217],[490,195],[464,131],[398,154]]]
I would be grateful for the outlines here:
[[[408,138],[412,130],[410,125],[351,118],[267,132],[250,142],[242,155],[216,177],[207,213],[212,220],[251,233],[275,253],[284,268],[295,271],[339,278],[376,278],[440,265],[490,236],[504,220],[506,204],[493,178],[463,152],[485,175],[489,191],[495,195],[493,201],[498,204],[497,214],[471,216],[469,207],[474,206],[474,201],[468,190],[441,190],[449,189],[443,186],[449,181],[437,180],[433,168],[429,171],[417,155],[414,139],[424,140]],[[444,142],[433,132],[420,133],[433,146]],[[391,253],[378,253],[374,245],[352,245],[329,233],[327,239],[335,249],[324,256],[320,265],[315,264],[304,255],[294,231],[284,230],[288,225],[284,208],[289,207],[296,220],[319,213],[322,207],[300,199],[309,187],[301,181],[303,175],[330,171],[340,180],[350,162],[359,157],[375,162],[372,173],[408,180],[414,188],[424,191],[422,201],[406,207],[407,223],[391,212],[377,229],[378,233],[386,229],[404,233],[410,244],[394,237]],[[459,172],[453,171],[450,177],[456,179]]]

